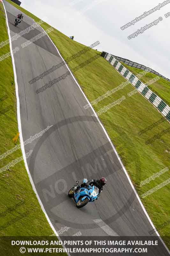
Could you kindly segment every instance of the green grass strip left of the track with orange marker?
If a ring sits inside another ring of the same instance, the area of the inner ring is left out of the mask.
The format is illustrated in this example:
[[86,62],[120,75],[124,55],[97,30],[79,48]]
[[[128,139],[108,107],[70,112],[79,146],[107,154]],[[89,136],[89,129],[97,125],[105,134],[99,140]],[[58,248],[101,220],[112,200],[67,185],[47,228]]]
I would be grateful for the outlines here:
[[[8,34],[2,3],[0,3],[0,31],[3,31],[0,33],[0,42],[7,40]],[[7,52],[10,52],[9,44],[0,48],[0,56]],[[11,57],[8,57],[0,61],[1,154],[15,147],[16,144],[12,139],[17,133],[15,84]],[[16,143],[18,144],[19,140]],[[0,168],[20,156],[22,153],[18,149],[0,160]],[[10,167],[9,170],[0,173],[0,193],[0,236],[51,236],[53,234],[33,192],[23,160]],[[0,244],[0,248],[1,246],[3,245]],[[13,249],[10,253],[8,251],[8,255],[14,255],[14,251]],[[6,255],[4,251],[2,254]],[[58,255],[67,254],[59,253]]]

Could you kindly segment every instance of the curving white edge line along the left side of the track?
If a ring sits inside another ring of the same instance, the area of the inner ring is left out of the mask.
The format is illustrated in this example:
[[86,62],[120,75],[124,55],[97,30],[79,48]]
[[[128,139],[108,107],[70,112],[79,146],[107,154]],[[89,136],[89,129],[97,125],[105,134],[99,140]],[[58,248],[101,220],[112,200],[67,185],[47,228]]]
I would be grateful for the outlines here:
[[[2,2],[3,6],[4,6],[4,3]],[[35,192],[36,196],[37,196],[37,199],[38,199],[38,202],[41,206],[41,209],[42,211],[44,212],[45,216],[46,216],[46,219],[50,225],[50,227],[52,228],[54,234],[57,236],[57,238],[61,240],[60,236],[57,234],[53,224],[51,223],[48,215],[47,215],[47,212],[41,202],[41,199],[37,193],[37,190],[35,188],[35,185],[33,183],[33,179],[31,177],[31,174],[30,174],[30,171],[29,171],[29,168],[28,168],[28,165],[27,165],[27,162],[26,162],[26,153],[25,153],[25,148],[24,148],[24,141],[23,141],[23,136],[22,136],[22,128],[21,128],[21,116],[20,116],[20,102],[19,102],[19,93],[18,93],[18,83],[17,83],[17,73],[16,73],[16,68],[15,68],[15,61],[14,61],[14,56],[13,56],[13,52],[12,52],[12,42],[11,42],[11,35],[10,35],[10,28],[9,28],[9,24],[8,24],[8,17],[7,17],[7,13],[6,13],[6,9],[5,9],[5,6],[4,6],[4,11],[5,11],[5,15],[6,15],[6,25],[7,25],[7,29],[8,29],[8,36],[9,36],[9,42],[10,42],[10,52],[11,52],[11,59],[12,59],[12,65],[13,65],[13,72],[14,72],[14,82],[15,82],[15,90],[16,90],[16,98],[17,98],[17,119],[18,119],[18,131],[19,131],[19,138],[20,138],[20,145],[21,145],[21,151],[22,151],[22,155],[23,155],[23,160],[24,160],[24,163],[25,163],[25,167],[26,167],[26,171],[28,173],[28,177],[29,177],[29,180],[31,182],[31,185],[32,185],[32,188],[33,188],[33,191]],[[63,244],[62,244],[63,248],[66,248]],[[69,256],[70,256],[70,253],[67,253]]]

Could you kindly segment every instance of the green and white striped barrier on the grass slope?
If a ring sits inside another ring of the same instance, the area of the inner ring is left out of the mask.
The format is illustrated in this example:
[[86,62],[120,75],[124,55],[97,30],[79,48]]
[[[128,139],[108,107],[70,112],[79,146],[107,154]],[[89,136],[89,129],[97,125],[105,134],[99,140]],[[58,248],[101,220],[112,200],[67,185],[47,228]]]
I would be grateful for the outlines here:
[[168,121],[170,121],[170,107],[161,98],[159,98],[154,92],[152,92],[145,84],[143,84],[111,54],[107,52],[102,52],[101,56],[104,57],[139,92],[141,92],[147,100],[149,100],[156,108],[158,108],[162,115],[165,116]]

